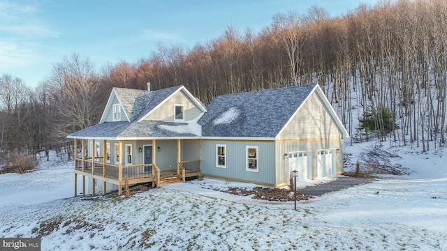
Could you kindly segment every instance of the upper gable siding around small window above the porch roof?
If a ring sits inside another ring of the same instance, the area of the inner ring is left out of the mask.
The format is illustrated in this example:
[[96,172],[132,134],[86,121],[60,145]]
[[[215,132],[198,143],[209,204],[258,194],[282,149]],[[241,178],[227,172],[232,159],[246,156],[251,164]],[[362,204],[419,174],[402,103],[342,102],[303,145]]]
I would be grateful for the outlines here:
[[172,98],[166,100],[163,105],[154,109],[145,120],[174,121],[174,105],[184,105],[184,121],[196,119],[202,113],[184,91],[179,91]]

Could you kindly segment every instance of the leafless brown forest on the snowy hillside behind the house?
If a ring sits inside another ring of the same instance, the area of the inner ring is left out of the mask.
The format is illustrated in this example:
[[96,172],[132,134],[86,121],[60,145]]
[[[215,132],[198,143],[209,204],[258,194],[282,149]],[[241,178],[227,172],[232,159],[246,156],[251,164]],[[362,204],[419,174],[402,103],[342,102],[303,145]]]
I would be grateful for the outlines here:
[[[259,33],[228,26],[190,49],[160,44],[147,55],[95,70],[74,52],[35,90],[1,73],[0,153],[58,149],[70,158],[66,135],[98,123],[112,87],[147,82],[182,84],[205,105],[226,93],[317,83],[355,140],[422,151],[446,143],[447,1],[380,1],[338,17],[314,6],[279,13]],[[357,126],[365,118],[369,132]]]

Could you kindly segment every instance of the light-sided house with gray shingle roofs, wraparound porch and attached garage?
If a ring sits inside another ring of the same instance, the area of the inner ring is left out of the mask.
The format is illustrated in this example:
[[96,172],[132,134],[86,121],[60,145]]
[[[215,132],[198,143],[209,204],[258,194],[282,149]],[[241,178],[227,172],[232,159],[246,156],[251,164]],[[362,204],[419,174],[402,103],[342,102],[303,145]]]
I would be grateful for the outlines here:
[[316,84],[219,96],[208,107],[184,86],[114,88],[100,123],[68,135],[82,144],[83,195],[86,177],[94,194],[199,174],[272,187],[295,169],[302,180],[342,174],[346,137]]

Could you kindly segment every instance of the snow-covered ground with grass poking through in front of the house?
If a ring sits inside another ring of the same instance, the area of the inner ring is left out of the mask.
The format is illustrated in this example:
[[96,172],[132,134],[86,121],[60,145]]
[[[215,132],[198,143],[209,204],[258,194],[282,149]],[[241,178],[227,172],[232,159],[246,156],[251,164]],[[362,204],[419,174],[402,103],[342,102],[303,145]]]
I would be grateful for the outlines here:
[[[355,162],[370,144],[345,151]],[[412,174],[298,201],[297,211],[207,189],[254,187],[211,178],[74,198],[73,162],[52,156],[35,172],[0,175],[0,236],[42,234],[42,250],[447,250],[447,149],[383,147]]]

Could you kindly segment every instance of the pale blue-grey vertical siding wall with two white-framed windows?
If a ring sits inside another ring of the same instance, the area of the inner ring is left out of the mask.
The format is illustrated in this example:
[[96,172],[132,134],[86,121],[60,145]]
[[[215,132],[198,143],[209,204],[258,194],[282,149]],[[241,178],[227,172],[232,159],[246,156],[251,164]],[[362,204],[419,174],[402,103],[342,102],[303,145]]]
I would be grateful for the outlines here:
[[[226,168],[216,167],[216,145],[226,145]],[[246,146],[258,146],[258,172],[246,170]],[[202,173],[274,185],[274,142],[202,140]]]

